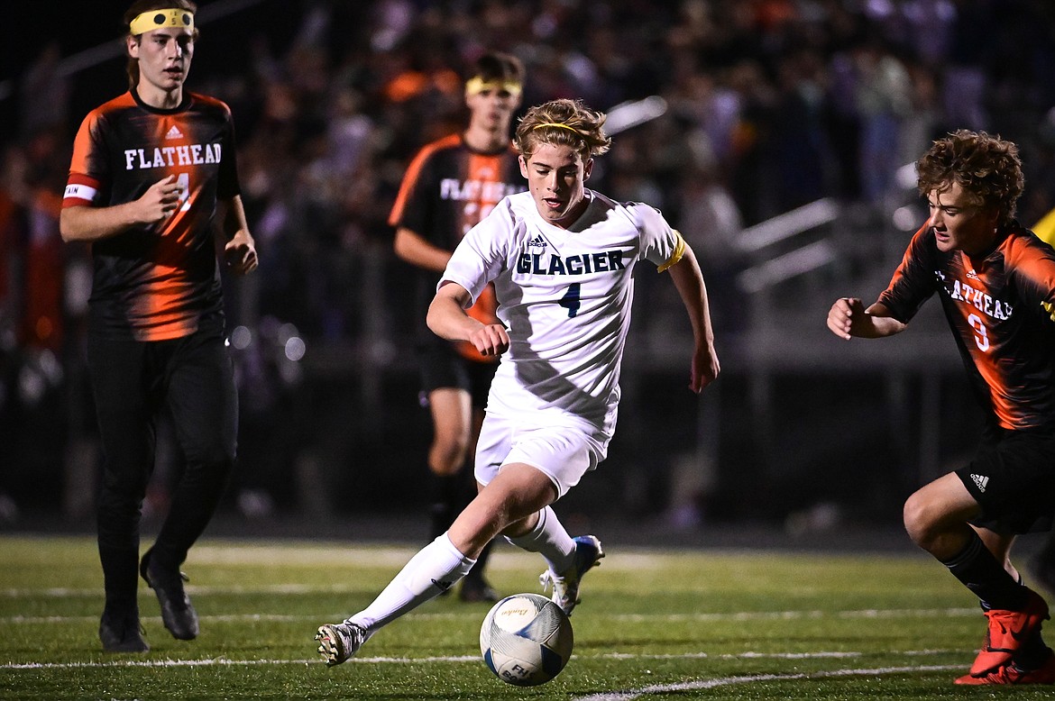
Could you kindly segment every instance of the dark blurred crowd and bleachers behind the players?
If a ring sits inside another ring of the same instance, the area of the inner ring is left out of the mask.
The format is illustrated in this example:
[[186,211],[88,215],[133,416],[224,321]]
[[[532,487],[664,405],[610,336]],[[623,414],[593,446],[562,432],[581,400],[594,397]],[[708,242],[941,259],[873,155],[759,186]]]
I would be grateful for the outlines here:
[[[0,523],[91,521],[90,252],[57,221],[80,120],[127,83],[126,3],[90,4],[30,3],[0,42]],[[940,325],[869,347],[824,316],[885,286],[925,218],[910,164],[947,131],[1019,144],[1023,223],[1055,207],[1050,0],[214,0],[198,25],[188,85],[233,110],[262,261],[226,280],[232,514],[423,513],[411,271],[385,220],[409,158],[464,124],[462,70],[492,48],[524,61],[524,108],[661,98],[590,184],[680,229],[720,334],[725,374],[696,398],[673,288],[638,279],[617,436],[567,510],[688,529],[894,520],[972,445]],[[175,450],[162,431],[148,514]]]

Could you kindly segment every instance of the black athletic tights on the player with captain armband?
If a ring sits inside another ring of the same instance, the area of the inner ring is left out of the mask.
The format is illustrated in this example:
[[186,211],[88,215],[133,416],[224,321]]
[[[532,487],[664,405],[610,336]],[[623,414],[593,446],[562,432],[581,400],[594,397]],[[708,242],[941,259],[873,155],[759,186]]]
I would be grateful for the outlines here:
[[155,342],[90,336],[88,365],[103,451],[97,522],[107,605],[134,606],[158,415],[171,413],[186,468],[151,558],[176,568],[212,518],[234,466],[233,366],[224,338],[202,332]]

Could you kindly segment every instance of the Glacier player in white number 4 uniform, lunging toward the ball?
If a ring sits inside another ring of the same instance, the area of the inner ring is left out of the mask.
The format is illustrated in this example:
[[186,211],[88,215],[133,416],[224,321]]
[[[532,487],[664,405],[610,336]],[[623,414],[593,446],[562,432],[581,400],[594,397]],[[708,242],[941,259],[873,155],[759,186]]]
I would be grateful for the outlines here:
[[[605,118],[574,100],[532,108],[514,142],[528,192],[503,199],[455,250],[428,327],[483,355],[501,355],[477,447],[480,492],[370,605],[320,626],[315,640],[328,665],[449,588],[498,534],[542,556],[543,585],[553,586],[553,601],[571,615],[582,576],[605,553],[595,537],[569,536],[550,505],[607,454],[638,262],[668,272],[688,311],[689,389],[699,392],[717,376],[692,249],[655,209],[586,188],[593,157],[611,144]],[[465,311],[488,283],[498,297],[496,324]]]

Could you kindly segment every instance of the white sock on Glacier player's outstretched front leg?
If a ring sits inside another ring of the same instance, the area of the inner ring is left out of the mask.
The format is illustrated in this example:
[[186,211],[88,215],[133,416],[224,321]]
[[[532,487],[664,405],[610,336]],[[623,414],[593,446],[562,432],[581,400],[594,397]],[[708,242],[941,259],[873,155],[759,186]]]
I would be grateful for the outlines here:
[[459,552],[443,533],[410,558],[369,606],[349,616],[345,622],[361,625],[370,634],[377,632],[381,626],[449,589],[475,564],[476,560]]

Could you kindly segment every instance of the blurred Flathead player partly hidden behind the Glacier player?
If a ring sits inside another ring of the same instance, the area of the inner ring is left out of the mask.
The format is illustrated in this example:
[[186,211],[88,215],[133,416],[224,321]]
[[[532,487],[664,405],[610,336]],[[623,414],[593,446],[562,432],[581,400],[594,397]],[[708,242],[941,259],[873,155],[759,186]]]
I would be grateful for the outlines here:
[[[417,268],[416,329],[421,403],[433,420],[428,449],[431,475],[429,540],[444,531],[476,495],[473,455],[497,358],[480,355],[472,344],[452,344],[425,326],[425,313],[440,273],[455,247],[507,194],[523,190],[511,145],[513,115],[520,105],[523,66],[515,56],[488,53],[465,82],[468,126],[425,145],[407,169],[388,222],[396,228],[400,258]],[[495,294],[487,289],[472,313],[496,320]],[[483,571],[490,547],[462,581],[464,601],[497,601]]]

